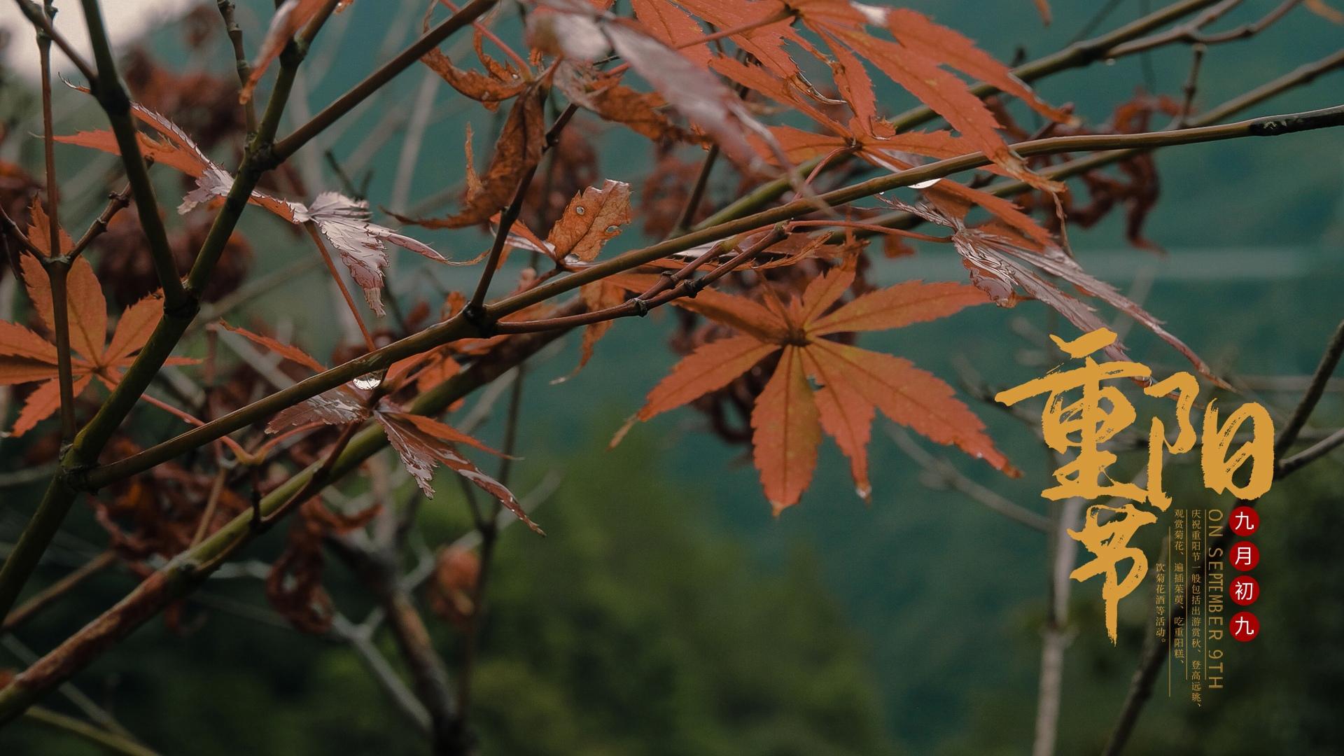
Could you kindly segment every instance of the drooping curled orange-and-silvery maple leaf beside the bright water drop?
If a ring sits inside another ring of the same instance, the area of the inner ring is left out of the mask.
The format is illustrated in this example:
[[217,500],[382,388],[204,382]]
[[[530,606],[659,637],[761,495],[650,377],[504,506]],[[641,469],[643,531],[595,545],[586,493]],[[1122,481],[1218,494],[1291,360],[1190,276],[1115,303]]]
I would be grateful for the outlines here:
[[[296,365],[302,365],[314,373],[325,370],[321,362],[293,344],[282,344],[270,336],[254,334],[246,328],[238,328],[227,323],[222,323],[222,326]],[[410,373],[411,366],[426,361],[427,356],[413,355],[392,363],[388,366],[387,374],[382,381],[405,378]],[[431,417],[403,412],[401,406],[387,397],[380,397],[370,406],[371,395],[370,391],[360,389],[353,382],[336,386],[329,391],[323,391],[316,397],[304,400],[276,413],[270,422],[266,424],[266,432],[278,433],[289,428],[312,424],[347,425],[372,418],[383,428],[387,441],[396,451],[406,471],[411,474],[415,484],[426,498],[434,498],[434,488],[430,482],[434,476],[435,464],[442,463],[453,472],[465,478],[470,484],[495,496],[500,504],[517,515],[534,531],[542,533],[542,529],[527,517],[527,511],[513,492],[458,453],[456,445],[466,444],[492,455],[500,455],[500,452],[454,429],[452,425],[439,422]]]

